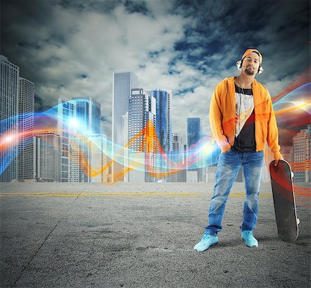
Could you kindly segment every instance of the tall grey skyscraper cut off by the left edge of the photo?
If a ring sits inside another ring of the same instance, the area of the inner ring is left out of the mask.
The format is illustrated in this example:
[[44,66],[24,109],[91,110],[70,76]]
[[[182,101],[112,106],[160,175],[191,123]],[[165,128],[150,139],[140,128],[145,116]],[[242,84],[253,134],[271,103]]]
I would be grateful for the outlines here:
[[17,178],[19,67],[0,55],[0,135],[6,148],[0,151],[0,181]]

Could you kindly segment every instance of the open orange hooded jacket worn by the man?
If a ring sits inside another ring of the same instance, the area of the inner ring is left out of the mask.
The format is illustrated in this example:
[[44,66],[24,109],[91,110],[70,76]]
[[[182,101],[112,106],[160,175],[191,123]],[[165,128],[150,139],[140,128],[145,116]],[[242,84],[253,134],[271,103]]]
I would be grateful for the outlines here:
[[[279,134],[272,108],[272,99],[265,86],[254,79],[252,83],[255,110],[256,151],[263,151],[265,142],[269,145],[275,159],[281,158]],[[211,97],[209,123],[211,132],[222,152],[234,145],[236,131],[236,98],[234,77],[220,81]]]

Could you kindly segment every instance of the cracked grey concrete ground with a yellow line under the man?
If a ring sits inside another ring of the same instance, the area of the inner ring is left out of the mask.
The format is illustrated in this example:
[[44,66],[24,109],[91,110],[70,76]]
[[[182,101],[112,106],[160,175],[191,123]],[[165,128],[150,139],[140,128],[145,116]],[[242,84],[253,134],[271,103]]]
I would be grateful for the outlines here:
[[220,243],[198,253],[213,183],[0,183],[1,287],[311,287],[310,195],[299,238],[278,238],[261,185],[258,248],[241,240],[235,183]]

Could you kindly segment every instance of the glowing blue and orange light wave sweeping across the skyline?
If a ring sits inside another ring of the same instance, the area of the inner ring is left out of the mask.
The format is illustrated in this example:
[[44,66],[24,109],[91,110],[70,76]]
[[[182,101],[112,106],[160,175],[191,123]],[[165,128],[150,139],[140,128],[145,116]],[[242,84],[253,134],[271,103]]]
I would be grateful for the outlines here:
[[[308,77],[309,76],[309,77]],[[308,81],[307,81],[308,80]],[[279,126],[280,138],[290,138],[299,132],[302,126],[310,124],[311,115],[311,101],[310,101],[310,70],[305,70],[301,75],[301,79],[295,79],[288,88],[286,88],[282,93],[272,97],[274,102],[274,113],[276,115],[276,120]],[[77,100],[70,100],[73,103]],[[81,101],[81,100],[78,100]],[[84,100],[86,101],[86,100]],[[59,104],[62,105],[62,104]],[[261,104],[262,105],[262,104]],[[1,121],[1,126],[8,126],[10,121],[17,123],[15,126],[9,127],[7,131],[4,131],[0,137],[0,156],[1,156],[1,170],[0,174],[8,167],[10,161],[8,159],[14,159],[17,157],[19,147],[21,142],[32,137],[32,135],[38,135],[39,133],[44,133],[46,131],[57,133],[56,127],[59,106],[48,109],[42,113],[35,113],[35,123],[39,128],[35,128],[34,131],[24,131],[19,133],[12,133],[15,131],[21,122],[26,121],[29,117],[28,115],[17,115],[12,117],[14,119],[4,119]],[[256,115],[256,121],[261,121],[269,115]],[[149,173],[155,179],[162,179],[168,177],[174,173],[178,173],[182,170],[189,169],[200,169],[205,166],[211,166],[217,163],[218,155],[220,149],[215,144],[215,142],[207,141],[206,138],[202,138],[198,143],[189,147],[185,153],[167,155],[159,142],[156,135],[156,128],[153,126],[152,122],[147,122],[147,125],[129,140],[124,146],[117,146],[111,141],[106,140],[106,149],[101,151],[109,160],[109,162],[95,169],[88,162],[88,157],[84,153],[84,149],[80,147],[75,140],[82,140],[84,146],[91,144],[94,149],[101,150],[101,147],[92,139],[92,133],[82,133],[83,123],[79,122],[78,119],[67,117],[62,121],[68,126],[67,131],[63,133],[68,133],[71,148],[77,151],[80,155],[78,161],[71,159],[75,164],[79,164],[82,167],[82,171],[88,177],[95,177],[100,175],[104,171],[109,169],[109,166],[113,162],[117,162],[125,166],[125,169],[120,173],[120,175],[115,175],[115,177],[122,177],[125,173],[135,169]],[[229,122],[234,122],[235,119],[229,120]],[[224,125],[229,124],[224,123]],[[140,148],[138,151],[133,151],[131,149],[131,144],[135,140],[141,140]],[[115,153],[113,155],[112,146],[115,146]],[[14,157],[8,157],[9,153],[13,153]],[[142,157],[143,153],[143,157]],[[269,148],[265,151],[265,162],[270,163],[273,156],[270,153]],[[164,163],[161,165],[161,163]],[[310,171],[310,160],[306,160],[300,163],[290,163],[292,170],[294,172]],[[295,184],[296,185],[296,184]],[[310,197],[310,191],[308,189],[303,189],[296,185],[296,194],[302,196]]]

